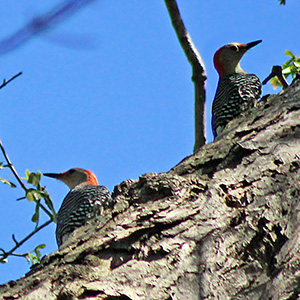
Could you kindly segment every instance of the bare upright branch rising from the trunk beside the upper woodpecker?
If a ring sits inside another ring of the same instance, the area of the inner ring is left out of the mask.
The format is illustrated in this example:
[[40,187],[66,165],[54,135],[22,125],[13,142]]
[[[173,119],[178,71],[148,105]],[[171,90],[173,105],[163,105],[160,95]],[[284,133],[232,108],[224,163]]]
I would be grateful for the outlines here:
[[192,80],[195,85],[195,153],[205,144],[205,66],[184,26],[176,0],[165,0],[165,3],[181,47],[193,68]]

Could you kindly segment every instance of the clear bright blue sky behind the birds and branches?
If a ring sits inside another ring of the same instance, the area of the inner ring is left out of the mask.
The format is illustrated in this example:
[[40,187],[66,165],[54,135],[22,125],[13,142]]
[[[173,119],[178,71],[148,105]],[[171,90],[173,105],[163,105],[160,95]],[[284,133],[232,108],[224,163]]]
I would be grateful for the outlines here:
[[[51,9],[53,0],[11,0],[1,7],[0,40]],[[214,52],[228,42],[262,39],[242,61],[264,79],[300,55],[300,2],[287,0],[178,0],[184,22],[207,69],[207,130],[217,84]],[[0,56],[0,79],[23,75],[1,93],[0,138],[17,171],[60,172],[71,167],[94,171],[113,190],[126,179],[168,171],[194,145],[194,87],[191,68],[171,26],[164,1],[102,0]],[[270,85],[263,93],[273,93]],[[276,91],[278,92],[278,90]],[[2,156],[1,156],[2,157]],[[0,157],[0,161],[4,159]],[[0,177],[16,180],[8,169]],[[58,209],[68,188],[50,178],[42,184]],[[0,248],[29,233],[34,205],[21,188],[0,183]],[[46,218],[42,218],[42,221]],[[19,252],[46,243],[56,250],[55,225],[48,226]],[[29,270],[22,258],[0,265],[0,283]]]

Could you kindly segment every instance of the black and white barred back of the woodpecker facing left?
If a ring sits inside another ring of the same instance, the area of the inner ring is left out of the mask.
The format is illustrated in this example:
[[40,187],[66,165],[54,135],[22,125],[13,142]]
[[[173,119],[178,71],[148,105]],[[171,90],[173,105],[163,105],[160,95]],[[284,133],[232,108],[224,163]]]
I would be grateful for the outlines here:
[[56,241],[58,247],[88,219],[100,215],[101,208],[113,203],[108,189],[99,185],[78,185],[63,200],[57,214]]

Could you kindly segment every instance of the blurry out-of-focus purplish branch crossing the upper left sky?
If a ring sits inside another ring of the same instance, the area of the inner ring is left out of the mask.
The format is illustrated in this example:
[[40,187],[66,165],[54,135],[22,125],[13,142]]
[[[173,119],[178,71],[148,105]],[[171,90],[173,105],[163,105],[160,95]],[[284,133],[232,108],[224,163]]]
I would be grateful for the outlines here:
[[30,39],[45,31],[52,29],[58,23],[65,21],[67,18],[78,12],[82,7],[96,0],[70,0],[64,1],[48,12],[31,19],[21,29],[11,36],[0,41],[0,55],[13,51],[24,45]]

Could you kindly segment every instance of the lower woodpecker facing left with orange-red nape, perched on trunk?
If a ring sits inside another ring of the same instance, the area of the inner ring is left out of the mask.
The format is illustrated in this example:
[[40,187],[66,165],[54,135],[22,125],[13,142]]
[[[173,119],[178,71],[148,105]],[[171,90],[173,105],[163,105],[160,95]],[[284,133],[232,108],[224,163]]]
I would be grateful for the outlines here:
[[98,185],[94,173],[73,168],[62,173],[44,173],[45,176],[64,182],[70,192],[57,213],[56,241],[60,247],[69,235],[88,219],[101,214],[101,209],[112,204],[107,188]]

